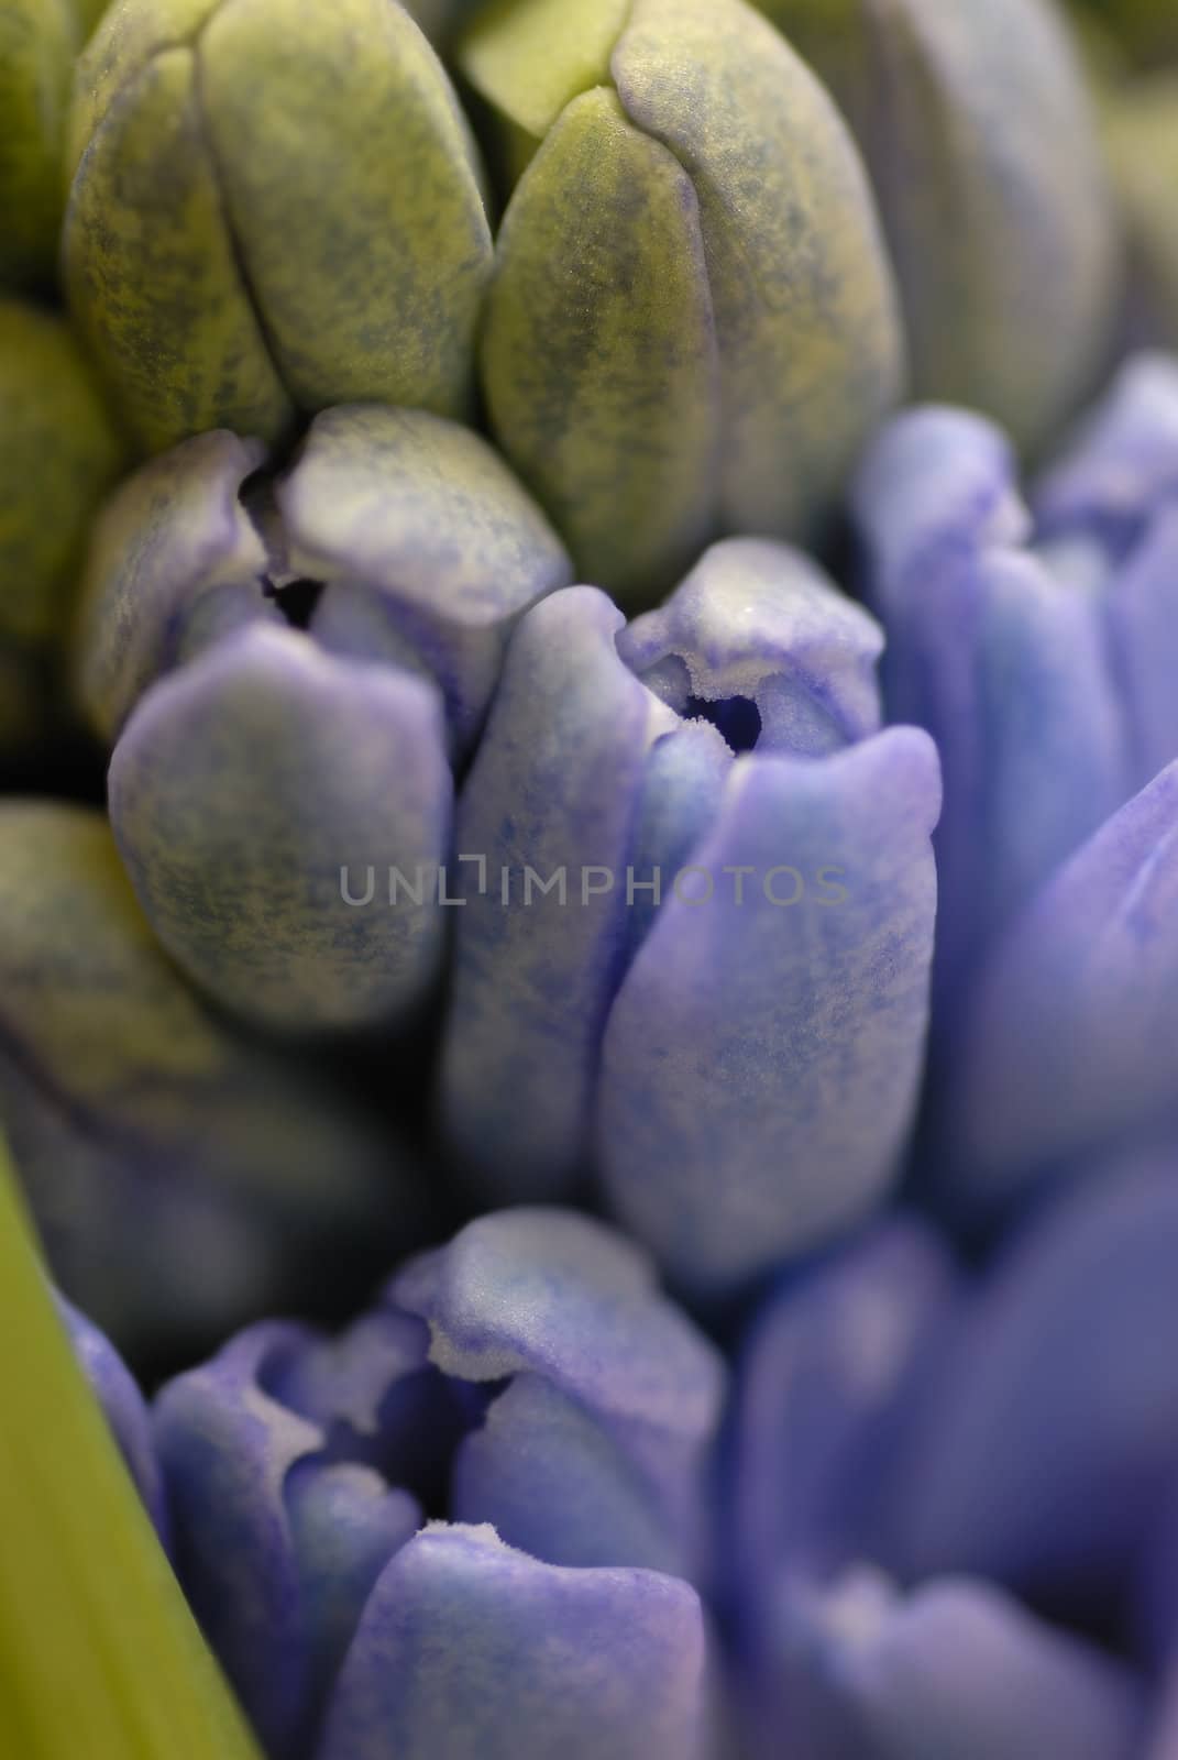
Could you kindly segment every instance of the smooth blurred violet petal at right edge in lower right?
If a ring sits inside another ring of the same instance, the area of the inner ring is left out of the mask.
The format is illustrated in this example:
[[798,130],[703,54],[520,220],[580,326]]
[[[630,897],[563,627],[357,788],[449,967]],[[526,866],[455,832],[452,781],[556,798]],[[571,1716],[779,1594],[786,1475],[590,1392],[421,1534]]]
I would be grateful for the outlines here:
[[907,1568],[1108,1609],[1178,1466],[1176,1251],[1173,1155],[1095,1169],[1016,1236],[910,1441]]

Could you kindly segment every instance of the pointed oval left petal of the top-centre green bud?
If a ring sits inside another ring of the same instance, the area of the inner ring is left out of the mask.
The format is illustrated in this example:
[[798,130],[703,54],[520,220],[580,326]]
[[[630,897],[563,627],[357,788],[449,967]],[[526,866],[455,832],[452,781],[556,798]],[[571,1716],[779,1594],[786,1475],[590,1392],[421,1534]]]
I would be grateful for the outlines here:
[[690,180],[611,92],[567,106],[516,188],[482,371],[583,577],[666,590],[715,519],[717,352]]

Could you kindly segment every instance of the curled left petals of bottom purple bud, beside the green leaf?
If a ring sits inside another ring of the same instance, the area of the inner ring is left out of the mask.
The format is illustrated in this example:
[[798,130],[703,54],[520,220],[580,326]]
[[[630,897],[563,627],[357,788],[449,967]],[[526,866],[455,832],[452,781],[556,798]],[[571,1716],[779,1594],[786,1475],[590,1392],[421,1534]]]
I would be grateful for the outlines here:
[[[421,1521],[414,1498],[333,1461],[328,1424],[278,1397],[273,1383],[313,1348],[301,1327],[252,1327],[155,1406],[178,1573],[276,1760],[306,1751],[368,1591]],[[396,1339],[368,1348],[391,1382]]]

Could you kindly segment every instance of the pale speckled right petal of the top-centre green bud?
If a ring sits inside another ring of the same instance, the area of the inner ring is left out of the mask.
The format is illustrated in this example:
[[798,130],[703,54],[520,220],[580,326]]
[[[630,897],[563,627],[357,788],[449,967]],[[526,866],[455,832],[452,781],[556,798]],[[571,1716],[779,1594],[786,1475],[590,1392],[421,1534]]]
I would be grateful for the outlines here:
[[722,524],[812,537],[903,382],[854,143],[741,4],[636,0],[613,74],[630,120],[699,195],[724,373]]

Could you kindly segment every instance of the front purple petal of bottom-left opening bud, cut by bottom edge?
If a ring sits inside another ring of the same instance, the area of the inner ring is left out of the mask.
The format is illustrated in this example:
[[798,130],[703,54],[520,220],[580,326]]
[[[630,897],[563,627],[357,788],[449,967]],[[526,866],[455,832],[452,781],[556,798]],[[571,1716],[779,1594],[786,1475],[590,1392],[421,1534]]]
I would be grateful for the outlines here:
[[315,1760],[699,1760],[696,1593],[428,1528],[380,1577]]

